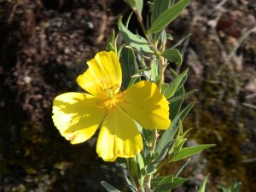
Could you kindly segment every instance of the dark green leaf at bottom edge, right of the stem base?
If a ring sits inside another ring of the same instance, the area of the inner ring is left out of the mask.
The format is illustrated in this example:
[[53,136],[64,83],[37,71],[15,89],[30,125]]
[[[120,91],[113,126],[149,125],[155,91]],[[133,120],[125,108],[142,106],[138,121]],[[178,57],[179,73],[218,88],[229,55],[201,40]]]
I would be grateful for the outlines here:
[[152,186],[155,186],[154,192],[166,192],[170,191],[171,189],[177,188],[177,186],[183,184],[187,181],[187,178],[181,177],[156,177],[153,178],[151,181]]

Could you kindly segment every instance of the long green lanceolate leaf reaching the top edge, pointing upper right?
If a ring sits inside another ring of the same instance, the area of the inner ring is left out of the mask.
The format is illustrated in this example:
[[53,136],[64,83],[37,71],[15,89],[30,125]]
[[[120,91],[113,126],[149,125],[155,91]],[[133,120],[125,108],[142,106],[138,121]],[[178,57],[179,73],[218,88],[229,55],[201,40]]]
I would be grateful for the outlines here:
[[162,29],[164,29],[177,17],[177,15],[183,11],[189,2],[190,0],[181,0],[175,3],[171,8],[166,9],[166,11],[161,13],[159,17],[154,20],[152,26],[148,30],[148,33],[160,32]]

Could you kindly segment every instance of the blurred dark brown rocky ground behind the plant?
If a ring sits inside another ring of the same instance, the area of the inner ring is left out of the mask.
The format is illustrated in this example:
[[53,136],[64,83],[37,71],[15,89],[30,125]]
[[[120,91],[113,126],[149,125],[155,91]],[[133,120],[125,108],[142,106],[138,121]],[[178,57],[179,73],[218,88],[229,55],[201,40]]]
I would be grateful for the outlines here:
[[[121,170],[96,156],[93,139],[71,146],[60,136],[51,105],[79,90],[85,62],[130,13],[120,0],[0,1],[0,191],[104,191],[101,180],[125,190]],[[169,28],[176,41],[190,34],[176,70],[189,67],[187,90],[201,90],[188,99],[197,101],[190,137],[219,146],[202,158],[207,166],[191,166],[191,186],[212,172],[210,191],[235,178],[242,191],[256,188],[255,15],[254,0],[194,0]]]

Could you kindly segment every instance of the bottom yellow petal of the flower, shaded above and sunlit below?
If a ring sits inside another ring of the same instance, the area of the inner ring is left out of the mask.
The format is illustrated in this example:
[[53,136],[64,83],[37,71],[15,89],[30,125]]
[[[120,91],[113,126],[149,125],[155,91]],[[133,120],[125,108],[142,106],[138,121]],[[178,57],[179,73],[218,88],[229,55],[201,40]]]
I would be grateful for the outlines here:
[[143,148],[137,125],[119,106],[108,111],[102,123],[96,151],[105,161],[135,156]]

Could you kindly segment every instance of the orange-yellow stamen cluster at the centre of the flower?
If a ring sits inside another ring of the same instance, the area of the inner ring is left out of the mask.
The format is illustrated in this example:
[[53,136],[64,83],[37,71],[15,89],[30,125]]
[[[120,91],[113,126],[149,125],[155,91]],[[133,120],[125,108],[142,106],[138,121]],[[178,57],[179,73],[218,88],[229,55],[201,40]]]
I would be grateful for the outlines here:
[[124,101],[123,93],[116,93],[119,85],[103,90],[101,100],[97,103],[98,108],[114,108],[118,102]]

